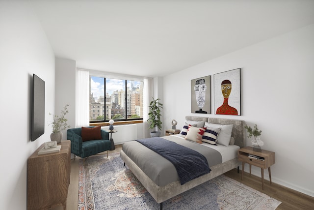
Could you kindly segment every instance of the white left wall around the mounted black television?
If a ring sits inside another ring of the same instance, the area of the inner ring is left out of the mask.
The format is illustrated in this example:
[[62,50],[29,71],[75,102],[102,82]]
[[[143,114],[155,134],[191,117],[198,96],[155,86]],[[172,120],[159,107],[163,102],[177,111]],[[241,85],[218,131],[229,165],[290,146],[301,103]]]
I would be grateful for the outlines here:
[[[0,209],[26,210],[26,162],[50,141],[54,110],[54,55],[28,1],[0,1]],[[30,141],[31,88],[45,81],[45,134]]]

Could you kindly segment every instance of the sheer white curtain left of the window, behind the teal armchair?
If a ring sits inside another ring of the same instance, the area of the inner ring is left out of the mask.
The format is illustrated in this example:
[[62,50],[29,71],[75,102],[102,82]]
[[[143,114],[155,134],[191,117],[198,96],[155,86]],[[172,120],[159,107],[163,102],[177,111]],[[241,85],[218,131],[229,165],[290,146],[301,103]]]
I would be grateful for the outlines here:
[[75,126],[89,125],[89,72],[77,69],[77,93],[76,93],[76,120]]

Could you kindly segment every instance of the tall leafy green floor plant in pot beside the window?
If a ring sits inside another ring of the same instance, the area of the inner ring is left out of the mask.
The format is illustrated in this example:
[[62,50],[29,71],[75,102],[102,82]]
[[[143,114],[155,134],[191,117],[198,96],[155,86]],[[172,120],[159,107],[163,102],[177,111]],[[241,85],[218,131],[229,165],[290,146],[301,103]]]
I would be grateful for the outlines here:
[[[156,100],[154,97],[152,97],[153,100],[149,104],[149,112],[148,112],[148,120],[147,122],[150,123],[149,128],[154,129],[154,131],[151,132],[151,137],[153,136],[160,136],[160,131],[161,131],[161,110],[163,109],[162,106],[163,104],[158,102],[160,100],[157,98]],[[160,130],[160,131],[158,131]]]

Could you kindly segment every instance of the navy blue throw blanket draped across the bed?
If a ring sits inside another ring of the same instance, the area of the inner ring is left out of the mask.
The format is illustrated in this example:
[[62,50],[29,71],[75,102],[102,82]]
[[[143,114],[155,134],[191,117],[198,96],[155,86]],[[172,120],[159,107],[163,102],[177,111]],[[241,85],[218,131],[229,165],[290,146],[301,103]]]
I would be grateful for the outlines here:
[[159,137],[136,141],[169,160],[176,167],[181,184],[211,171],[206,157],[195,150]]

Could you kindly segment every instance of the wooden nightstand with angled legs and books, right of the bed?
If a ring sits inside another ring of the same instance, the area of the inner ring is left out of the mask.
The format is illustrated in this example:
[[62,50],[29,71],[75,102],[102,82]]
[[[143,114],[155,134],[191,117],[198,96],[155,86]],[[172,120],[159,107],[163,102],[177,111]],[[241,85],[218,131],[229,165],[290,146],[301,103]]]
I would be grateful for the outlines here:
[[244,164],[250,164],[250,175],[251,165],[261,168],[262,173],[262,189],[264,189],[264,169],[268,168],[269,182],[271,183],[270,166],[275,163],[275,152],[273,151],[254,151],[253,147],[244,147],[238,150],[238,160],[242,162],[242,175],[243,180]]

